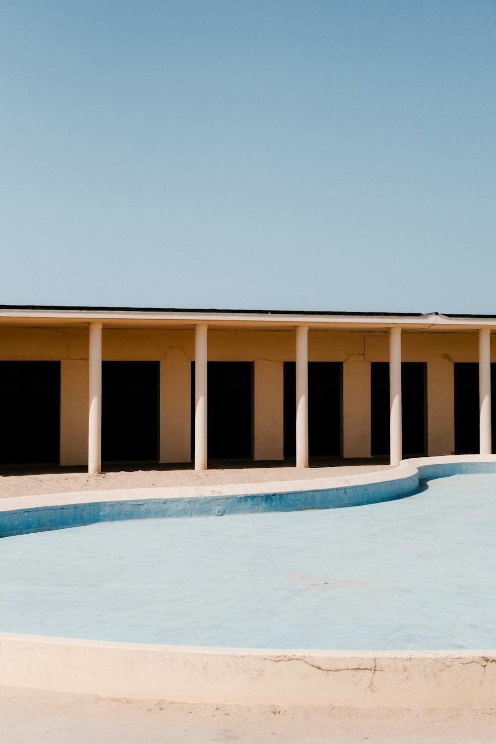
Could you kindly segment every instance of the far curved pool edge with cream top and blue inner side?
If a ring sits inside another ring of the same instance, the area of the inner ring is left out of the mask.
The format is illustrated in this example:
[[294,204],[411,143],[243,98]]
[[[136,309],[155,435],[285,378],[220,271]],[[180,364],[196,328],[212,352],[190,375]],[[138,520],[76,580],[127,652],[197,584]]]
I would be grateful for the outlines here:
[[413,458],[390,470],[347,477],[17,496],[0,499],[0,537],[121,519],[366,506],[408,496],[420,480],[477,472],[496,472],[496,455]]

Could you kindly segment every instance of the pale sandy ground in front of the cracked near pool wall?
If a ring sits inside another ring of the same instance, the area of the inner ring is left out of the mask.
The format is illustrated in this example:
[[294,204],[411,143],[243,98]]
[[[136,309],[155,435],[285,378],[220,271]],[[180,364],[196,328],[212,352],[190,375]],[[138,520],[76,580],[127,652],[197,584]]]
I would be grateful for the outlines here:
[[0,687],[0,744],[494,744],[496,713],[241,708]]

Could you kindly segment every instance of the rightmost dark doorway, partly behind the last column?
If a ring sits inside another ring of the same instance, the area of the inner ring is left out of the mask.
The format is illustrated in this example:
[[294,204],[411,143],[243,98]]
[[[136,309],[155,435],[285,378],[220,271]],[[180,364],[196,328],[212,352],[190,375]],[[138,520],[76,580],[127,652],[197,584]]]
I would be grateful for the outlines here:
[[[454,373],[454,451],[457,455],[474,455],[480,450],[479,438],[479,365],[478,362],[455,362]],[[491,421],[496,431],[496,365],[491,365]],[[492,451],[496,441],[493,436]]]

